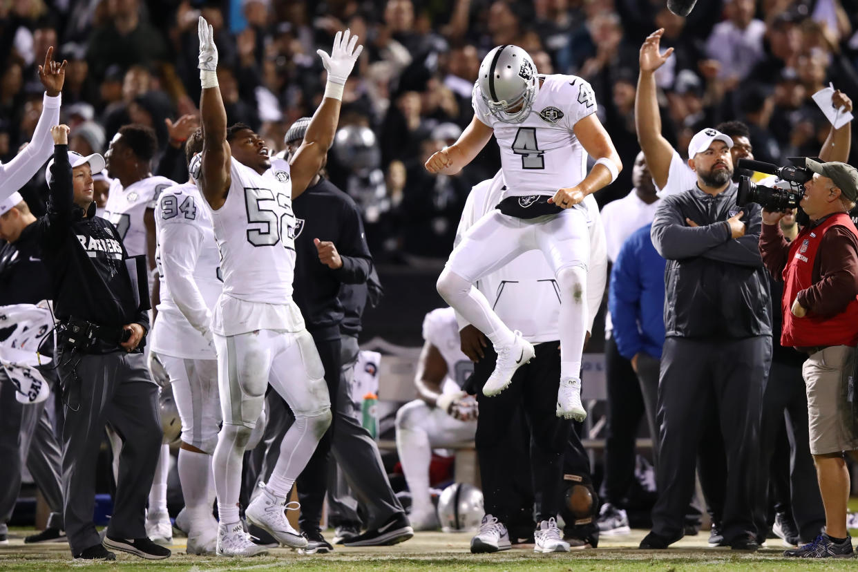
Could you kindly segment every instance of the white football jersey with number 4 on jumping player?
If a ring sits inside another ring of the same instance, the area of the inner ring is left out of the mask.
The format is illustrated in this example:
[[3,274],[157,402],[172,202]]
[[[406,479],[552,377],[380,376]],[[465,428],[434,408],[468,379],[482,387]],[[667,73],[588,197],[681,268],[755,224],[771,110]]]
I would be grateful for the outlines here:
[[554,195],[587,175],[587,152],[572,130],[596,111],[593,88],[576,75],[540,75],[542,85],[523,123],[494,117],[474,87],[476,117],[494,129],[507,196]]

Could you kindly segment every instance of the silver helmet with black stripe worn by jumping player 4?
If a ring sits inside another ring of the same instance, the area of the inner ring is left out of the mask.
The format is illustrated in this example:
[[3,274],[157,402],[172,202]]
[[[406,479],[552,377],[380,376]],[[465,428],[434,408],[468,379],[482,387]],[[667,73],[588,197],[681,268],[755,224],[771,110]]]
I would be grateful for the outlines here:
[[517,45],[498,45],[480,63],[474,89],[494,117],[505,123],[522,123],[539,92],[534,61]]

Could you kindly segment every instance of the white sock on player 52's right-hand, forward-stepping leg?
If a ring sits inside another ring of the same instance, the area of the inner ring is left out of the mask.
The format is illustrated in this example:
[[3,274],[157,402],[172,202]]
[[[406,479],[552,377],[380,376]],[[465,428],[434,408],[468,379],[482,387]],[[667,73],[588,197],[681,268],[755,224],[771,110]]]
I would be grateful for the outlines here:
[[313,455],[319,440],[330,424],[330,412],[308,417],[296,415],[280,445],[280,457],[266,485],[278,497],[288,497],[295,479]]

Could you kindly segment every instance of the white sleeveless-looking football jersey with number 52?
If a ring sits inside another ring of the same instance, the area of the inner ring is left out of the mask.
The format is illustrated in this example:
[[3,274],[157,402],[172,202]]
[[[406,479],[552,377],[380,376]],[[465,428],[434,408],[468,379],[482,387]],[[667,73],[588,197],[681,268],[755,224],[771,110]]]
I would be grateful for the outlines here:
[[221,335],[304,329],[292,301],[295,214],[289,164],[273,159],[260,175],[233,157],[230,175],[227,201],[211,211],[223,276],[213,329]]

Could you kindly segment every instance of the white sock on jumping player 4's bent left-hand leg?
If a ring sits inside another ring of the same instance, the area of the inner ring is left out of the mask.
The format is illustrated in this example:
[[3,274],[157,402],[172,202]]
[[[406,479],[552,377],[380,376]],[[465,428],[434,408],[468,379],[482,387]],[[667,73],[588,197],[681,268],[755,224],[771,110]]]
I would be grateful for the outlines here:
[[486,334],[486,338],[492,340],[495,346],[508,346],[516,339],[512,330],[492,310],[492,305],[482,292],[462,276],[451,272],[450,268],[444,268],[438,277],[438,294],[474,328]]

